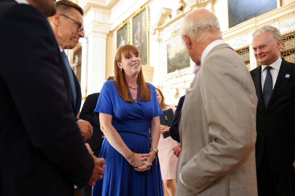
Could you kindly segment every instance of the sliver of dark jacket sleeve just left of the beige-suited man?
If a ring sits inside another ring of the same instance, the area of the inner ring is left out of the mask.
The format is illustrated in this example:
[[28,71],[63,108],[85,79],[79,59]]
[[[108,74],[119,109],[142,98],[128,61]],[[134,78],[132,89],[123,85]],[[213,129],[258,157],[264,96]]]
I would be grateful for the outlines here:
[[175,111],[175,114],[173,117],[173,121],[172,121],[171,127],[169,129],[170,136],[172,137],[172,139],[174,139],[177,142],[180,142],[179,130],[178,130],[178,119],[179,119],[179,115],[180,115],[180,112],[182,109],[184,97],[185,97],[185,95],[183,95],[182,97],[179,98],[179,101],[178,101],[178,104],[176,107],[176,111]]

